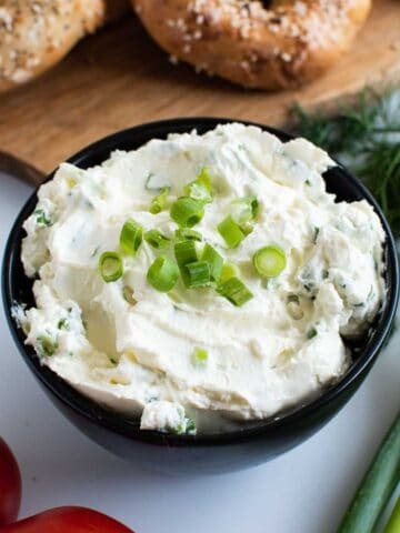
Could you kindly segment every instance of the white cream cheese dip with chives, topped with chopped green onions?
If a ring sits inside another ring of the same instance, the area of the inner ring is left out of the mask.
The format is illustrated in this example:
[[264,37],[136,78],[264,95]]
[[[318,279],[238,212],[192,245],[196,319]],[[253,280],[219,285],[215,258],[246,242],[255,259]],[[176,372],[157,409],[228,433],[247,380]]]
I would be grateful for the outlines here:
[[386,292],[380,221],[326,192],[332,165],[237,123],[61,164],[24,223],[27,344],[143,430],[207,432],[319,393]]

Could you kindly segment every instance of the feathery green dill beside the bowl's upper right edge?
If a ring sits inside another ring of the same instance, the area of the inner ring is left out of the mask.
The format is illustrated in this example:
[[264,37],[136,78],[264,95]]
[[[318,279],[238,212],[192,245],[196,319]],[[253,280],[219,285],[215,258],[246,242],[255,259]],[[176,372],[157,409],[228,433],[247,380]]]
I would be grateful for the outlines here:
[[370,189],[400,237],[400,89],[368,89],[334,117],[296,104],[293,132],[327,150]]

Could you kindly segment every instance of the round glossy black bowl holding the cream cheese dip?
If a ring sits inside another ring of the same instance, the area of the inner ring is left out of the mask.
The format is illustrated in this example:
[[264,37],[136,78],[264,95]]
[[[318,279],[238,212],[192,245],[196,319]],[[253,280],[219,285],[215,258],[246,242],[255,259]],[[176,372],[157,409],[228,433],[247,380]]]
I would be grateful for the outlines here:
[[[69,161],[81,168],[99,164],[116,149],[137,149],[150,139],[163,139],[168,133],[183,133],[197,129],[203,133],[227,119],[177,119],[139,125],[116,133],[83,149]],[[260,124],[256,124],[260,125]],[[282,141],[291,139],[281,131],[260,125],[277,134]],[[317,399],[297,405],[284,413],[258,421],[241,431],[214,435],[164,435],[141,432],[139,421],[110,412],[77,392],[47,366],[42,366],[31,346],[26,346],[24,335],[11,316],[13,302],[33,304],[32,281],[27,279],[20,261],[22,223],[37,203],[32,194],[20,212],[9,238],[2,271],[2,292],[6,315],[19,351],[51,401],[83,433],[113,453],[169,472],[223,472],[239,470],[268,461],[304,441],[326,424],[354,394],[378,358],[393,321],[398,291],[399,268],[396,245],[388,223],[366,188],[342,167],[324,174],[329,192],[339,200],[366,199],[373,205],[383,224],[386,241],[386,281],[388,293],[383,309],[368,338],[354,346],[354,362],[339,382]],[[383,386],[383,384],[382,384]]]

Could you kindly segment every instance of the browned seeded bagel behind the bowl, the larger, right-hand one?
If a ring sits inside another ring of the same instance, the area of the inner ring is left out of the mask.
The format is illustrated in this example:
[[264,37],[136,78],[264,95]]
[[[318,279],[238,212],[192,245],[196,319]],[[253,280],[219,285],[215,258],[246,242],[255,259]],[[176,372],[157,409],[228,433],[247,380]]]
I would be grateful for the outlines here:
[[173,59],[249,88],[310,81],[349,48],[371,0],[132,0]]

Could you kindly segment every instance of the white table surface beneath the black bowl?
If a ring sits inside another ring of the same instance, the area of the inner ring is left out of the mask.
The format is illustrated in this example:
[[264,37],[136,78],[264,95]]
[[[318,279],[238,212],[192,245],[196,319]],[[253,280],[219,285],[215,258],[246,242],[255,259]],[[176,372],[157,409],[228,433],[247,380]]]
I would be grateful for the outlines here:
[[[30,191],[0,174],[1,257]],[[137,533],[333,533],[399,409],[399,343],[400,333],[344,409],[297,449],[243,472],[167,477],[114,457],[52,406],[18,354],[1,306],[0,434],[21,466],[21,515],[77,504]]]

